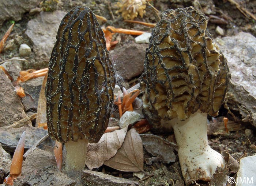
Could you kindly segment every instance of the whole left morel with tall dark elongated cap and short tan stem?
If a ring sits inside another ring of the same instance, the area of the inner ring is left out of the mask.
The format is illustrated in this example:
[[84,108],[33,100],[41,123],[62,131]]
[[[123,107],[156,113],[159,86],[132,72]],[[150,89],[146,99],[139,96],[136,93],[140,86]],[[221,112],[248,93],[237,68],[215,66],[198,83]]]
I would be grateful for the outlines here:
[[52,139],[65,143],[66,169],[81,170],[87,144],[108,127],[114,71],[94,13],[75,7],[62,19],[49,61],[46,115]]

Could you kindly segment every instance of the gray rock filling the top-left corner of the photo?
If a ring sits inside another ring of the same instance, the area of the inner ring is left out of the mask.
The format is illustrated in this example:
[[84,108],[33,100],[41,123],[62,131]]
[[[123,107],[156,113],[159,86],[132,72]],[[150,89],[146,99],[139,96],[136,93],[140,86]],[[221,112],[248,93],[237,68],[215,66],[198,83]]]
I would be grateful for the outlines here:
[[0,3],[0,26],[5,20],[21,20],[23,13],[37,7],[41,0],[1,0]]

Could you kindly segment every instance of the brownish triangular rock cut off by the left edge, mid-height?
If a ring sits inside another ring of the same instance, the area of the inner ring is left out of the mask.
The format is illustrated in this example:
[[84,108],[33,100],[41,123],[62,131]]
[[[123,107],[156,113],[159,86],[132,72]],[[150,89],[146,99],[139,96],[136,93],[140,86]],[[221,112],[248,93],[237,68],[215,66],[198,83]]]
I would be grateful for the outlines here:
[[20,97],[14,91],[14,86],[12,86],[3,70],[0,70],[0,85],[0,127],[3,127],[25,118],[26,114],[20,102]]

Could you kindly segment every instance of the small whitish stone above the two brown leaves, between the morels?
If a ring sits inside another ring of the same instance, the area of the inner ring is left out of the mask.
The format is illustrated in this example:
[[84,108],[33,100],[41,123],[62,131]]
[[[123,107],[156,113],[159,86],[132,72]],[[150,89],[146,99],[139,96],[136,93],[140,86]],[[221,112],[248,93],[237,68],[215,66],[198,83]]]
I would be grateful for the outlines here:
[[138,114],[137,112],[126,111],[123,114],[123,116],[120,118],[120,121],[119,121],[120,128],[124,128],[129,124],[138,122],[139,119],[140,119],[140,114]]

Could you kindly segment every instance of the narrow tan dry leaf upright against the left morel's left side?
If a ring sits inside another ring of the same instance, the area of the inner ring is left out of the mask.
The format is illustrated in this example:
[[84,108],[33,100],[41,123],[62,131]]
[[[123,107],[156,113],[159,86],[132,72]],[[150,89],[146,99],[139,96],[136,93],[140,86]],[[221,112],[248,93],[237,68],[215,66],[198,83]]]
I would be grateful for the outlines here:
[[47,80],[47,75],[45,75],[45,78],[42,82],[41,91],[38,98],[38,104],[37,104],[37,120],[35,121],[35,127],[39,126],[39,123],[46,123],[46,98],[45,98],[45,84]]

